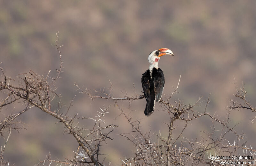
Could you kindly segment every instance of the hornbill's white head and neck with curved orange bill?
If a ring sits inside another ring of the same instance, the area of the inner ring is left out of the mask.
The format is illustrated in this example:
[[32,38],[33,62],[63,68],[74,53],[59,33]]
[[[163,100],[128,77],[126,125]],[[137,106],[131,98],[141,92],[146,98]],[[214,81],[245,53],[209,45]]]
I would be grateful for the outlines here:
[[160,56],[163,55],[173,55],[172,51],[168,48],[161,48],[159,50],[152,51],[148,56],[148,62],[149,62],[149,70],[152,71],[152,69],[155,67],[158,69],[158,61],[160,59]]

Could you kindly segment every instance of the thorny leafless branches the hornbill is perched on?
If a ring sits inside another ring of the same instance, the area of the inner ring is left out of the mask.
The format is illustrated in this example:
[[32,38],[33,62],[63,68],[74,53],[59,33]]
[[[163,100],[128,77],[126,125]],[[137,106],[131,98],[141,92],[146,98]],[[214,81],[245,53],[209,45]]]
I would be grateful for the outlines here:
[[[207,106],[210,103],[210,95],[206,100],[203,112],[195,110],[195,108],[200,106],[202,103],[200,102],[201,97],[199,97],[198,101],[193,105],[185,105],[180,100],[177,102],[174,101],[174,104],[172,104],[170,99],[178,89],[179,83],[180,79],[177,88],[174,89],[174,92],[172,92],[170,97],[166,97],[166,101],[161,100],[160,102],[163,110],[170,116],[170,121],[167,124],[167,138],[162,137],[161,133],[151,134],[150,131],[148,133],[144,133],[140,129],[141,121],[133,119],[130,112],[125,112],[125,108],[122,108],[118,104],[120,99],[129,101],[138,100],[142,99],[142,95],[136,95],[135,97],[125,96],[124,98],[115,98],[111,96],[110,93],[108,94],[104,92],[104,90],[94,90],[97,95],[92,95],[89,90],[82,90],[77,84],[76,86],[81,93],[87,94],[92,100],[95,98],[113,100],[117,108],[121,111],[121,114],[124,115],[124,118],[131,125],[132,133],[122,133],[119,135],[131,142],[136,150],[133,157],[120,159],[122,161],[122,165],[222,165],[220,160],[212,160],[208,155],[210,155],[212,152],[218,154],[228,152],[230,155],[241,154],[241,150],[248,149],[244,148],[246,142],[243,144],[241,143],[241,139],[243,140],[245,138],[244,133],[238,134],[238,132],[235,130],[235,126],[229,126],[230,111],[228,112],[228,116],[225,120],[217,118],[215,113],[211,114],[210,112],[207,112]],[[212,132],[202,131],[202,138],[193,141],[192,139],[189,139],[189,135],[185,134],[186,129],[189,125],[191,125],[190,122],[192,120],[195,121],[201,117],[208,118],[210,121],[212,121],[212,126],[210,126]],[[182,121],[184,122],[184,128],[179,132],[175,130],[174,124],[179,123],[179,125],[181,125]],[[217,126],[220,127],[217,129]],[[216,138],[215,133],[219,131],[221,131],[221,134],[218,134],[220,136]],[[175,135],[177,135],[178,132],[178,136],[175,137],[173,132],[175,132]],[[228,134],[236,136],[236,145],[230,146],[227,144],[226,136]],[[156,135],[158,141],[154,141],[154,135]],[[250,151],[254,152],[254,149],[250,149]],[[255,153],[253,154],[253,157],[255,157]]]

